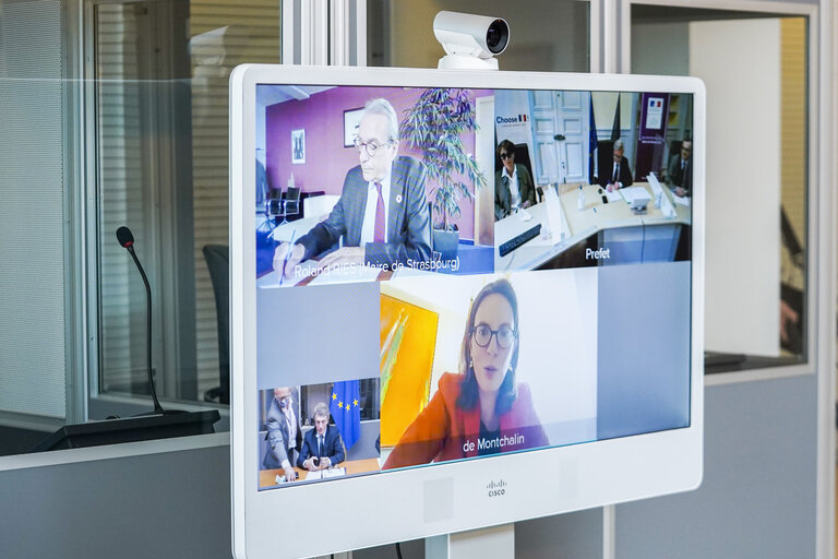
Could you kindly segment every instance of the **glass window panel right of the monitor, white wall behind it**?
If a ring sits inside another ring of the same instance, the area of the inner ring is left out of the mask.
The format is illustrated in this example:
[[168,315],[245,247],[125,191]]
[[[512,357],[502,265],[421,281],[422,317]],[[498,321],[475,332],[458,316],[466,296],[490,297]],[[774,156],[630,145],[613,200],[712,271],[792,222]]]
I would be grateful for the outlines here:
[[[706,370],[807,360],[807,19],[632,7],[631,71],[707,86]],[[690,132],[667,133],[670,164]]]

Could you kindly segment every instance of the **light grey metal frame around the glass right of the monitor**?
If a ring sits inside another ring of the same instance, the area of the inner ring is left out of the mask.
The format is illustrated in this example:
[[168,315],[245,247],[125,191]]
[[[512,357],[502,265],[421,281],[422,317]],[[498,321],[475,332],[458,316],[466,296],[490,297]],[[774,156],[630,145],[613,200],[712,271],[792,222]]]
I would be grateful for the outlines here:
[[[705,386],[771,381],[783,378],[813,376],[816,386],[816,511],[815,555],[835,554],[835,452],[836,452],[836,318],[835,297],[838,224],[835,223],[838,162],[833,151],[838,138],[835,122],[836,50],[830,36],[835,34],[836,10],[829,2],[802,1],[790,3],[773,0],[620,0],[620,53],[612,52],[620,72],[631,68],[631,9],[633,5],[678,7],[717,11],[758,12],[777,16],[806,17],[806,324],[805,361],[743,371],[705,376]],[[616,9],[616,8],[615,8]],[[619,58],[619,60],[618,60]],[[822,306],[815,301],[825,300]],[[613,548],[616,538],[615,507],[603,510],[603,544]],[[613,556],[613,554],[610,554]]]

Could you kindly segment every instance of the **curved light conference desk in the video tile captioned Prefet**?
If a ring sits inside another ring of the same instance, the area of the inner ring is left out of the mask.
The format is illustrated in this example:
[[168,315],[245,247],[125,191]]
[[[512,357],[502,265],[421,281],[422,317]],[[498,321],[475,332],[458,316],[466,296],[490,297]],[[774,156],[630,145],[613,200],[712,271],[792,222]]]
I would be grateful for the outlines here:
[[[575,183],[560,186],[559,207],[549,207],[549,202],[544,202],[527,209],[532,216],[530,221],[525,222],[518,214],[513,214],[496,222],[494,224],[495,271],[535,270],[568,248],[600,233],[608,242],[611,236],[608,231],[613,231],[614,235],[619,231],[625,237],[623,228],[643,227],[639,230],[642,238],[645,238],[647,226],[659,225],[662,228],[658,237],[677,237],[682,225],[691,224],[691,209],[674,203],[674,194],[668,188],[662,188],[665,197],[662,207],[655,207],[651,187],[647,182],[635,182],[634,186],[645,188],[651,198],[644,214],[635,214],[622,199],[608,204],[603,203],[597,185],[583,185],[585,206],[579,209],[577,203],[579,185]],[[673,210],[671,216],[665,214],[663,206],[667,204]],[[559,224],[556,225],[555,222]],[[541,224],[539,237],[504,257],[500,255],[500,245],[538,224]],[[624,239],[621,239],[621,242],[624,242]]]

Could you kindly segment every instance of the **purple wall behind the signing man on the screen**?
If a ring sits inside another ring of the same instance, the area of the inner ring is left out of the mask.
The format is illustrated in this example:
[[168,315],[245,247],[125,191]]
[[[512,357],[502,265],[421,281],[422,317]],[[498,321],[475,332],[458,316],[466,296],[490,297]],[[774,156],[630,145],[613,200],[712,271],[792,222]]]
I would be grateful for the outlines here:
[[[274,188],[285,190],[290,174],[303,192],[323,190],[339,194],[346,173],[358,165],[358,151],[344,147],[344,110],[363,107],[373,97],[384,97],[396,109],[399,119],[411,107],[422,90],[404,87],[335,87],[315,93],[304,100],[289,100],[267,107],[266,147],[267,174]],[[492,92],[476,92],[477,96]],[[291,164],[291,131],[306,130],[306,163]],[[464,139],[466,153],[474,153],[475,135]],[[403,142],[399,154],[421,159],[421,155]],[[489,177],[487,177],[489,180]],[[489,181],[491,182],[491,181]],[[430,192],[432,185],[427,185]],[[471,187],[474,192],[474,186]],[[430,197],[429,197],[430,200]],[[460,216],[453,219],[460,238],[475,236],[475,206],[460,203]]]

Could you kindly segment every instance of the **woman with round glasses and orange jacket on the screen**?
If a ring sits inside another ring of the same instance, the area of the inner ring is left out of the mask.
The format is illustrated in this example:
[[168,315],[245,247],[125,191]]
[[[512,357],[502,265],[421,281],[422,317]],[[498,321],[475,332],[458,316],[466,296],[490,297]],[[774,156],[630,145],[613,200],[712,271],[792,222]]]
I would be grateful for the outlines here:
[[519,343],[512,285],[488,284],[468,313],[459,373],[442,376],[383,469],[547,447],[529,388],[515,381]]

